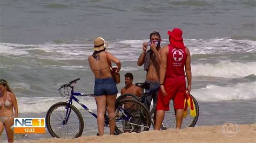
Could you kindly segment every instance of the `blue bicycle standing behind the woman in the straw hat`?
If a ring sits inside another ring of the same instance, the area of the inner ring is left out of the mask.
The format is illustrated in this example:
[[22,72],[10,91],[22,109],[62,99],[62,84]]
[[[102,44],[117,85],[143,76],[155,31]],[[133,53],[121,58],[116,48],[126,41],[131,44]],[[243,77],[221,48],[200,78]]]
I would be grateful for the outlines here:
[[[73,101],[81,105],[93,117],[93,113],[87,106],[81,103],[75,96],[93,96],[92,94],[83,94],[74,92],[75,83],[80,80],[77,78],[69,83],[63,84],[58,90],[59,94],[68,99],[66,102],[53,104],[46,113],[46,127],[52,137],[56,138],[78,138],[84,130],[84,120],[79,110],[72,105]],[[71,92],[69,90],[71,88]],[[62,89],[64,94],[62,93]],[[129,126],[129,132],[148,131],[151,125],[150,113],[139,101],[125,99],[116,103],[116,128],[115,133],[126,132]],[[109,125],[109,116],[105,114],[104,126]]]

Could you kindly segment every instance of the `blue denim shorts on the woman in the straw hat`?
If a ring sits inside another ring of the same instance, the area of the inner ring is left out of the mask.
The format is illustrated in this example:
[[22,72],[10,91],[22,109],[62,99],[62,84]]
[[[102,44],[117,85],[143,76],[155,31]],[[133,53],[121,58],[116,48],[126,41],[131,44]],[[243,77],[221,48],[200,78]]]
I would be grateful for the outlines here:
[[117,95],[117,84],[113,77],[95,78],[94,95]]

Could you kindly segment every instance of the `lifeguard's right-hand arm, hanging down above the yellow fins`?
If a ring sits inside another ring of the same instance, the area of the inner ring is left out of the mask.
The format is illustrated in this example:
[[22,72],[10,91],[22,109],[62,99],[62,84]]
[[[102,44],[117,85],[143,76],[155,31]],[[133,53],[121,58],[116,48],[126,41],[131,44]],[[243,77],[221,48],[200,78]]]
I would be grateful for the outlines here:
[[192,84],[192,74],[191,74],[191,59],[190,59],[190,51],[188,48],[186,48],[186,53],[187,53],[187,60],[185,64],[185,71],[186,71],[186,76],[187,76],[187,92],[188,95],[190,94],[190,89],[191,89],[191,84]]

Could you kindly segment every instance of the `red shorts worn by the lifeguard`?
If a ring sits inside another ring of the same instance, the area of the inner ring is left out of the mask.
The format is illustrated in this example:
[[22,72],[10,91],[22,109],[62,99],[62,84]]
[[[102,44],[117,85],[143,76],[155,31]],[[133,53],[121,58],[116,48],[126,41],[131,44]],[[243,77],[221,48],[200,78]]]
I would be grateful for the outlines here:
[[170,110],[169,106],[171,99],[173,99],[174,102],[174,109],[183,109],[186,94],[185,78],[182,80],[166,79],[164,87],[167,96],[164,96],[159,89],[156,109],[165,111]]

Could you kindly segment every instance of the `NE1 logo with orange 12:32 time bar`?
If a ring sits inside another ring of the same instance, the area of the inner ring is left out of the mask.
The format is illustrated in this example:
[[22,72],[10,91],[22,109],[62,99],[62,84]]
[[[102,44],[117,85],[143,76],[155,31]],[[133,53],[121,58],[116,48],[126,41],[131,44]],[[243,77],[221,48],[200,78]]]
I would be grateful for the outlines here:
[[45,118],[14,118],[14,133],[45,133]]

